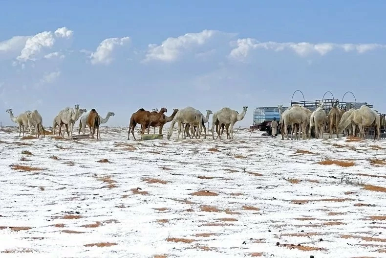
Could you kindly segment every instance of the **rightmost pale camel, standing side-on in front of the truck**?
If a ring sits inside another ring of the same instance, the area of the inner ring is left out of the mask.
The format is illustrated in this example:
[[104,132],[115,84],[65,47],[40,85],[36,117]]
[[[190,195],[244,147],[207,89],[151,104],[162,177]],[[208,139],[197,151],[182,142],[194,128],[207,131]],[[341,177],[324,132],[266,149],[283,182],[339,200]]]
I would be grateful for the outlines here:
[[374,141],[377,139],[379,140],[380,117],[376,111],[371,110],[365,105],[361,106],[359,109],[352,111],[345,121],[342,119],[340,120],[338,132],[342,133],[351,123],[354,123],[359,127],[362,139],[365,139],[365,127],[375,125]]

